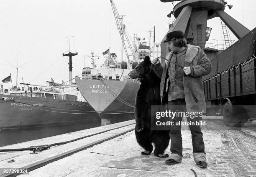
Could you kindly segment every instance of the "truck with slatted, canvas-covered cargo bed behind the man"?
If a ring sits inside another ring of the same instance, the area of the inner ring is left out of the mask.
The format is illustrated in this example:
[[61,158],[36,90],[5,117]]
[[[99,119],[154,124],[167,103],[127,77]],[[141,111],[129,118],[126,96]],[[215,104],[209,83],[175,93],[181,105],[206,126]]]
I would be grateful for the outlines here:
[[256,28],[212,58],[212,72],[203,77],[207,115],[218,112],[232,127],[256,120],[255,56]]

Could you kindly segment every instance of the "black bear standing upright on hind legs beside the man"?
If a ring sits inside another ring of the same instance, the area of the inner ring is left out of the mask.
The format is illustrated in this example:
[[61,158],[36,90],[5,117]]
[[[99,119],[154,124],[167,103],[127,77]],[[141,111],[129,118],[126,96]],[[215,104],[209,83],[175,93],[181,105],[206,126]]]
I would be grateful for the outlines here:
[[144,148],[142,155],[150,155],[155,145],[156,157],[169,157],[164,151],[169,145],[169,131],[151,131],[151,105],[161,105],[160,81],[153,70],[148,56],[134,68],[129,76],[141,82],[135,101],[135,135],[138,144]]

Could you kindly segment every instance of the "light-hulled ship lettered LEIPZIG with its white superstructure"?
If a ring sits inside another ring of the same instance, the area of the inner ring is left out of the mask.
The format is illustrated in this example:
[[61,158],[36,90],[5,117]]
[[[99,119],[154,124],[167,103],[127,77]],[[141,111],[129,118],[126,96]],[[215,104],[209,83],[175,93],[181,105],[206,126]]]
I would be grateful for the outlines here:
[[139,83],[128,77],[132,66],[116,59],[115,53],[110,54],[105,64],[84,67],[82,77],[75,77],[79,91],[105,124],[134,119]]

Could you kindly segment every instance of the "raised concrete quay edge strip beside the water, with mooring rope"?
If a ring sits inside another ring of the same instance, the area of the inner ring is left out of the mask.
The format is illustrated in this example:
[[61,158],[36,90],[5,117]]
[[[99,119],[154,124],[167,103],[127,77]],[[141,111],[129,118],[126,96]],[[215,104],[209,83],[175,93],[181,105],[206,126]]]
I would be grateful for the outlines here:
[[[134,128],[134,123],[135,123],[134,120],[130,120],[130,121],[120,122],[112,125],[105,125],[102,127],[95,127],[91,129],[77,131],[77,132],[66,133],[63,135],[57,135],[53,137],[47,137],[39,140],[33,140],[33,141],[18,143],[15,145],[8,145],[8,146],[1,147],[0,149],[15,149],[15,148],[31,147],[35,145],[46,145],[46,144],[49,145],[52,143],[64,142],[67,140],[74,140],[79,137],[97,134],[94,136],[86,137],[82,140],[67,143],[65,145],[53,146],[48,150],[44,150],[42,152],[36,152],[35,154],[33,153],[33,151],[0,152],[0,168],[4,168],[4,169],[26,168],[26,169],[33,170],[35,168],[40,167],[41,164],[46,165],[49,162],[55,161],[56,159],[61,159],[75,152],[79,152],[80,150],[85,149],[88,146],[90,147],[94,143],[100,143],[101,141],[119,136],[122,133],[132,131]],[[99,132],[104,132],[104,133],[98,134]],[[8,163],[9,160],[15,160],[15,162]]]

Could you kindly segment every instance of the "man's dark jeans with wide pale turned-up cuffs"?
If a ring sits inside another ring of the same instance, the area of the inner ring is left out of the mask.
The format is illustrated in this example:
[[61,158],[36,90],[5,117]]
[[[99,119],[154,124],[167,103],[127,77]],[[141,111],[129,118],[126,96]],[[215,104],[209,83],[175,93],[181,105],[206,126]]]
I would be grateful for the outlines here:
[[[186,112],[186,102],[185,99],[172,100],[168,102],[169,110],[176,112]],[[182,117],[174,117],[170,120],[174,122],[174,125],[171,126],[171,131],[169,136],[171,138],[171,158],[176,162],[182,161],[182,135],[181,135],[181,125],[175,125],[175,122],[182,121]],[[187,117],[187,122],[196,122],[199,121],[199,117],[191,119]],[[205,157],[205,144],[202,137],[202,131],[200,125],[190,125],[190,132],[192,135],[192,146],[193,146],[193,156],[195,162],[204,161],[206,162]]]

